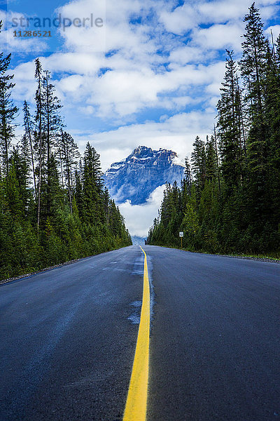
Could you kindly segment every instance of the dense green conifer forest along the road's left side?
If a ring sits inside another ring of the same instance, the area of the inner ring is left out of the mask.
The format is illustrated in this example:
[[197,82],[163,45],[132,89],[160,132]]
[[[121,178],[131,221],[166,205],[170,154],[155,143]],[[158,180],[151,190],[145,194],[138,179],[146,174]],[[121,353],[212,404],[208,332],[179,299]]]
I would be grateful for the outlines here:
[[62,130],[50,74],[43,76],[38,59],[36,115],[25,102],[25,134],[10,151],[17,109],[9,99],[9,62],[0,55],[0,279],[129,246],[120,210],[103,187],[99,154],[87,144],[79,163],[78,146]]

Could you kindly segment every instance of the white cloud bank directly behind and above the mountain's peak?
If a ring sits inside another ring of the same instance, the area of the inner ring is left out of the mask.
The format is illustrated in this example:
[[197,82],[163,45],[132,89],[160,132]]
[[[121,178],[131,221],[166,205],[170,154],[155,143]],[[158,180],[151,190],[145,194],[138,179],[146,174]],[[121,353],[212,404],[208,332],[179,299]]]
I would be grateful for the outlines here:
[[106,171],[113,161],[126,158],[139,145],[152,149],[172,149],[184,160],[192,152],[197,135],[204,139],[211,135],[215,116],[213,110],[181,113],[159,123],[146,121],[103,133],[71,134],[78,140],[81,149],[84,149],[87,142],[94,145],[101,156],[102,169]]

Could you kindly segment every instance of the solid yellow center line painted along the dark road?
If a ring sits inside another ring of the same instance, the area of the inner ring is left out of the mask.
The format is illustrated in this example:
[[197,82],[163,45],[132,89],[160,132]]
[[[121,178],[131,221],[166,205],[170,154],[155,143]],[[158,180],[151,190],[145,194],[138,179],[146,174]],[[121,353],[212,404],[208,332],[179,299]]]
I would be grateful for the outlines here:
[[130,377],[123,421],[145,421],[148,396],[148,359],[150,342],[150,285],[147,255],[144,253],[144,287],[137,345]]

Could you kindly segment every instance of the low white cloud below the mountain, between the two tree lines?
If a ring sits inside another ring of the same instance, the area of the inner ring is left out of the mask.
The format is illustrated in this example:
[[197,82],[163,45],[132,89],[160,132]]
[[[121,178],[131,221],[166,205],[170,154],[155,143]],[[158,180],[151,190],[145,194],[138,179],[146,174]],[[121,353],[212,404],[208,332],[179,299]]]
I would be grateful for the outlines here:
[[119,205],[120,213],[125,217],[125,225],[132,236],[146,237],[158,215],[165,185],[157,187],[143,205],[132,205],[130,201]]

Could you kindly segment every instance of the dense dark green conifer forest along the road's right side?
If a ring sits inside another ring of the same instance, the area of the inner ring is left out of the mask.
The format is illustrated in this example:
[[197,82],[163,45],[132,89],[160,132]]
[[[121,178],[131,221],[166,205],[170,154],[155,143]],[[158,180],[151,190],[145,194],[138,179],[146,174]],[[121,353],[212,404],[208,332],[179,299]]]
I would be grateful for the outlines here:
[[[193,180],[167,185],[148,243],[210,253],[280,248],[280,37],[270,47],[255,4],[245,18],[243,57],[227,51],[217,131],[194,142]],[[217,147],[218,145],[218,147]]]

